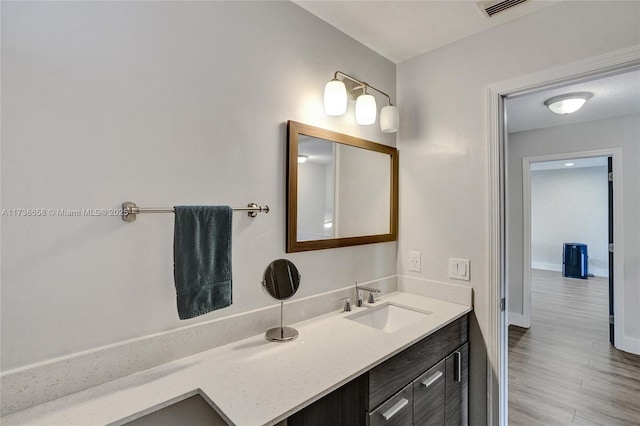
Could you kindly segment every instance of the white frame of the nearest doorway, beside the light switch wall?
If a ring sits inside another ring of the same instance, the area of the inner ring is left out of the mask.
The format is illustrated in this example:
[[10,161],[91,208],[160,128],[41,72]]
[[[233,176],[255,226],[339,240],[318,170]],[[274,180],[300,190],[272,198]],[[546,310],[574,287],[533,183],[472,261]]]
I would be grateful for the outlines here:
[[[640,45],[572,62],[486,87],[489,234],[489,328],[487,330],[487,424],[508,425],[507,321],[505,310],[505,139],[504,97],[580,78],[605,75],[640,64]],[[622,245],[622,241],[616,244]],[[618,268],[622,265],[618,264]],[[621,287],[618,285],[618,287]],[[618,311],[618,315],[621,312]]]

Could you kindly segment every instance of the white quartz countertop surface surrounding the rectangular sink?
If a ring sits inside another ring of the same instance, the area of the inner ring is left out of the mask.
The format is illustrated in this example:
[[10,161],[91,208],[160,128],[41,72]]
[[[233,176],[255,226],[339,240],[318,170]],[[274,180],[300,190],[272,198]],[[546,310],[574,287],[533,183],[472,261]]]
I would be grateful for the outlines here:
[[386,302],[431,314],[386,333],[344,318],[367,307],[329,313],[291,325],[299,332],[294,341],[253,336],[11,414],[2,424],[123,424],[199,393],[231,424],[271,425],[471,311],[400,292],[365,306]]

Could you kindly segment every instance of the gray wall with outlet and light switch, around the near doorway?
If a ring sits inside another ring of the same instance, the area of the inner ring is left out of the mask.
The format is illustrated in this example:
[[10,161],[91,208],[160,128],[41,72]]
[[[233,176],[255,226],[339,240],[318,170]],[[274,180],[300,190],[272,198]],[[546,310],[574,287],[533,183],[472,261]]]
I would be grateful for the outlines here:
[[[453,282],[448,258],[471,260],[471,424],[486,423],[492,344],[486,87],[637,45],[639,18],[637,2],[562,2],[398,64],[398,273]],[[411,250],[422,252],[420,273],[408,270]]]

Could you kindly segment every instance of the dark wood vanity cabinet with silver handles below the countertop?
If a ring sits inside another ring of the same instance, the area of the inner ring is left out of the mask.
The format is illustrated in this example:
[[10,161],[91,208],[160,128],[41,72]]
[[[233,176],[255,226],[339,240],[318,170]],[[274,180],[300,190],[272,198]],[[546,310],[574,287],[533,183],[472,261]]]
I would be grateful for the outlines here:
[[467,316],[287,419],[288,426],[466,425]]

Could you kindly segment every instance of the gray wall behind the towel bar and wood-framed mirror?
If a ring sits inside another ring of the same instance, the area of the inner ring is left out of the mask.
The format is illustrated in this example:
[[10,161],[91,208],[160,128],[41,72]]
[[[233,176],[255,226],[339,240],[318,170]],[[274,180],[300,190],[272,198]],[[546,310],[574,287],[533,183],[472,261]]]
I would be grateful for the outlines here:
[[272,211],[234,214],[234,303],[188,321],[172,215],[2,217],[2,370],[272,305],[278,258],[296,297],[395,274],[396,243],[284,252],[287,120],[395,145],[324,113],[338,69],[395,99],[395,64],[290,2],[3,2],[2,208]]

